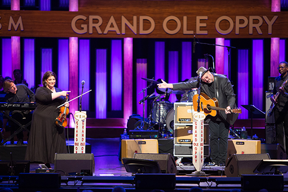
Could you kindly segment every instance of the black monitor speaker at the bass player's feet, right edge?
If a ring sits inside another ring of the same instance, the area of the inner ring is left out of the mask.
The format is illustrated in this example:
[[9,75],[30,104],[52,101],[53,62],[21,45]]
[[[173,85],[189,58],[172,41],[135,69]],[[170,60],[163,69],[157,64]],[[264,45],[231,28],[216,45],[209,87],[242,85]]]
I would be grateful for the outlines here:
[[282,159],[286,160],[286,153],[281,144],[261,144],[261,153],[268,153],[271,159]]

